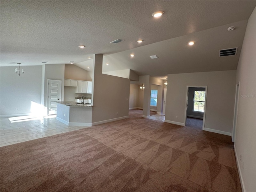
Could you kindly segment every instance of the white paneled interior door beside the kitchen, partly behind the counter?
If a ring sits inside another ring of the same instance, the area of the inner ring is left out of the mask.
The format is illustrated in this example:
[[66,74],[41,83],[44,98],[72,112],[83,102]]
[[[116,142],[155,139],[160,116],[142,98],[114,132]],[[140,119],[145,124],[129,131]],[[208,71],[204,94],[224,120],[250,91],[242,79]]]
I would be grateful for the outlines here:
[[57,114],[57,104],[55,101],[61,101],[61,80],[48,79],[47,92],[47,115]]

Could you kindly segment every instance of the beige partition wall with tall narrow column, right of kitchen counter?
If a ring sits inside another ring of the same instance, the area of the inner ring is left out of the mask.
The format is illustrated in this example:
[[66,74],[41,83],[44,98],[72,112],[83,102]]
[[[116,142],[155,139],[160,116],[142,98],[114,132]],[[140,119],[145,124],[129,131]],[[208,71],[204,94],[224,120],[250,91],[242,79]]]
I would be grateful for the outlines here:
[[128,117],[130,79],[102,74],[100,54],[94,58],[93,89],[92,123]]

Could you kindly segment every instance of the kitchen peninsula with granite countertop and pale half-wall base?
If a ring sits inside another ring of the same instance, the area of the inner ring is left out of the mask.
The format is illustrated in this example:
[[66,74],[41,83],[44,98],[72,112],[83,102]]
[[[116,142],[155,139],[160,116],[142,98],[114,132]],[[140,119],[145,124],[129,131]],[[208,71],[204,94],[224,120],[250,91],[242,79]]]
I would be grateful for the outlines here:
[[57,103],[56,120],[68,126],[92,126],[92,105],[73,101]]

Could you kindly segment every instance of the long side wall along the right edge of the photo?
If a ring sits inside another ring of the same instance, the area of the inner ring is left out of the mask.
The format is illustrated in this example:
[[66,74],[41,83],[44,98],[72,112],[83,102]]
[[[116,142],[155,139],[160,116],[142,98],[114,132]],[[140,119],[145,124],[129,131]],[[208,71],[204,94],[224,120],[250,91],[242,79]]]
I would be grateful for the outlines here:
[[[248,20],[244,36],[236,73],[236,83],[238,82],[240,89],[235,140],[236,158],[243,191],[254,192],[256,191],[256,8]],[[242,168],[243,162],[244,168]]]

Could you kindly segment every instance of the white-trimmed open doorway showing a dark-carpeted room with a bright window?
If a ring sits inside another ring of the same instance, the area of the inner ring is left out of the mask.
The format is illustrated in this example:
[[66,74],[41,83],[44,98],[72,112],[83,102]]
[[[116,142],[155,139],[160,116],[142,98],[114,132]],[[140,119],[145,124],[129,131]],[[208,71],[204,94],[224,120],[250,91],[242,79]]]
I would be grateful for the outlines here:
[[204,130],[207,86],[187,86],[186,93],[184,126],[191,123]]

